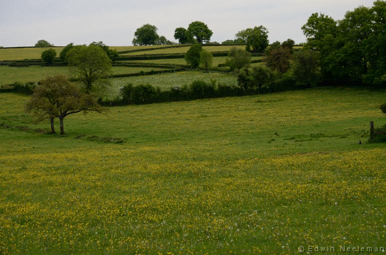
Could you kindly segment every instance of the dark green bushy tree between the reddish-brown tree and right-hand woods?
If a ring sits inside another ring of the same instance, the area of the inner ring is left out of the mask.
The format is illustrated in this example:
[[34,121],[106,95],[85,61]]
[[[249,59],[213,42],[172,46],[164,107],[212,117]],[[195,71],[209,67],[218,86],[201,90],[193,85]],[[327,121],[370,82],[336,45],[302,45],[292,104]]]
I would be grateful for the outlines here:
[[320,78],[318,53],[301,49],[294,53],[291,74],[297,85],[316,86]]

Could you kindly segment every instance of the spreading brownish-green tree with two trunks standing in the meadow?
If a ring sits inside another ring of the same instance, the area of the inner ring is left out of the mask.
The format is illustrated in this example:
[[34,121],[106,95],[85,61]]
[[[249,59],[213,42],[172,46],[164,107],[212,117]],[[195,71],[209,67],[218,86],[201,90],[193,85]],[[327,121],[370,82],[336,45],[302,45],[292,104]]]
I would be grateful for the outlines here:
[[54,133],[53,119],[59,118],[60,134],[64,134],[63,119],[71,114],[101,112],[96,98],[82,93],[65,76],[57,75],[40,81],[34,89],[25,111],[32,113],[37,121],[50,119],[51,132]]

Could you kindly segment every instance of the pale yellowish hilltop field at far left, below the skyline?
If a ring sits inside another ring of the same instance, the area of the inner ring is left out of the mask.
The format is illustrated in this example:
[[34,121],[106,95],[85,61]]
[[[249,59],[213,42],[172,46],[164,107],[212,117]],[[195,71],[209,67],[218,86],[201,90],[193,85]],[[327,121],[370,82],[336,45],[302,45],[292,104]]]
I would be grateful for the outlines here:
[[[24,59],[40,59],[41,53],[48,48],[0,48],[0,61],[3,60],[24,60]],[[56,56],[59,56],[60,51],[63,48],[52,48],[56,51]]]

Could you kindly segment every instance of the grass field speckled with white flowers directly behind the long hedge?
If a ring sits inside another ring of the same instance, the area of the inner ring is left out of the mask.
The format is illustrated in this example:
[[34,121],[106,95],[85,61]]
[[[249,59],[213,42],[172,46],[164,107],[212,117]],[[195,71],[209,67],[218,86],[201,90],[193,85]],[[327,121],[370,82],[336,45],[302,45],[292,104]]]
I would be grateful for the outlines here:
[[217,82],[222,84],[237,84],[237,77],[235,75],[223,74],[218,72],[204,73],[200,71],[185,71],[175,73],[164,73],[111,79],[112,87],[110,88],[110,97],[117,96],[119,88],[126,85],[127,83],[132,83],[134,85],[150,84],[155,87],[160,87],[162,90],[166,90],[174,86],[190,85],[196,80],[203,80],[206,82],[210,82],[211,80],[217,80]]

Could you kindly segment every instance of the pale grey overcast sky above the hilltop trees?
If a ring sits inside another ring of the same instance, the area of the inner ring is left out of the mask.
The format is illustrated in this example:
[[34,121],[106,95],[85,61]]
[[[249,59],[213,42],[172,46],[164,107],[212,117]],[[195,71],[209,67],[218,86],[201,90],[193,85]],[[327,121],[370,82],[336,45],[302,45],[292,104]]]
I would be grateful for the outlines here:
[[322,12],[342,19],[348,10],[373,0],[0,0],[0,46],[55,46],[103,41],[131,45],[135,30],[150,23],[175,41],[174,29],[195,20],[213,31],[211,41],[234,39],[245,28],[263,25],[269,40],[306,41],[308,17]]

